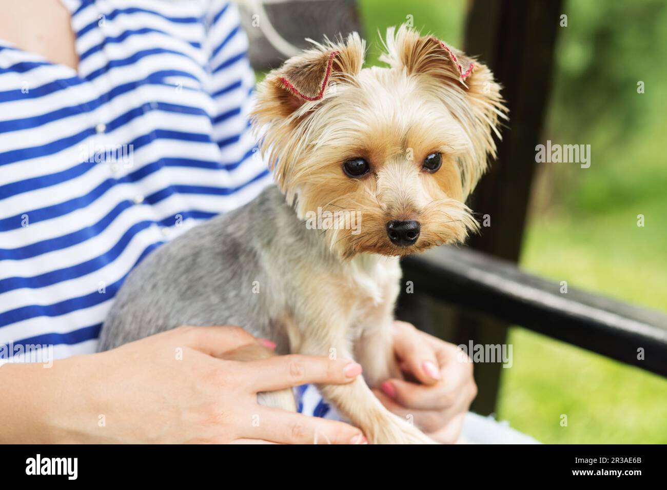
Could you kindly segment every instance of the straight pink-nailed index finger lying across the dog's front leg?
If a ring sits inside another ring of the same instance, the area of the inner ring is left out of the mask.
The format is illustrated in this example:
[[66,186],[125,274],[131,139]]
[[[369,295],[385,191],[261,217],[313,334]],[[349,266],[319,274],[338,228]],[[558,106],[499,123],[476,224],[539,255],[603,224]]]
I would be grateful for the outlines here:
[[290,354],[248,362],[242,375],[254,391],[275,391],[306,383],[344,385],[361,373],[362,366],[349,359]]

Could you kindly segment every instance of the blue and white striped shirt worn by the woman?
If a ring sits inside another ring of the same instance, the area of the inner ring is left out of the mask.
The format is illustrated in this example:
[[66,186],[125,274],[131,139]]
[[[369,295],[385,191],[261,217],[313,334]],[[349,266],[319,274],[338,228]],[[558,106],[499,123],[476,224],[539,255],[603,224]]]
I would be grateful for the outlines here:
[[78,70],[0,41],[0,357],[95,351],[138,261],[271,181],[234,5],[63,3]]

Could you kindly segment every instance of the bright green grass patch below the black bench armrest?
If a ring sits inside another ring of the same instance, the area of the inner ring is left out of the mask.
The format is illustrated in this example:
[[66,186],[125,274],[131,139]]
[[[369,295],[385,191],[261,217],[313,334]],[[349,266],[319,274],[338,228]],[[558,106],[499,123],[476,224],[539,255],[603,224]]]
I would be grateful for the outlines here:
[[544,443],[667,443],[663,378],[520,328],[508,342],[500,419]]

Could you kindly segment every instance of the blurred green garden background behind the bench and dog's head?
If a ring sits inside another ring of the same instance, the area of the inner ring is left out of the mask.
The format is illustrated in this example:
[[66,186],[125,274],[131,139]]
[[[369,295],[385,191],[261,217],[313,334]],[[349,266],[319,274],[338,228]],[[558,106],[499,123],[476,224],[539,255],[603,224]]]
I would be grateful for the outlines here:
[[[422,33],[462,46],[464,0],[360,0],[360,10],[368,64],[377,32],[410,15]],[[542,141],[590,144],[592,161],[536,164],[521,265],[667,311],[667,3],[579,0],[563,13]],[[509,341],[501,419],[545,443],[667,443],[664,378],[520,328]]]

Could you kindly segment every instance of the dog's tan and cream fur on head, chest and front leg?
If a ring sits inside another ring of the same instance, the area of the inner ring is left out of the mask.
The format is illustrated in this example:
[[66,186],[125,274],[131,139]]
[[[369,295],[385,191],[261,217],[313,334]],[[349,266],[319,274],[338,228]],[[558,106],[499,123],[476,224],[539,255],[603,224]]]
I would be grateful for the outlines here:
[[[505,108],[486,66],[406,26],[388,29],[380,58],[385,68],[362,69],[365,43],[356,33],[345,42],[313,44],[259,85],[253,122],[299,219],[318,208],[360,212],[363,232],[323,232],[341,262],[294,272],[296,281],[315,289],[295,317],[311,319],[317,329],[306,337],[289,319],[283,325],[291,352],[354,355],[376,386],[400,375],[390,337],[400,280],[396,257],[460,243],[478,229],[464,203],[488,155],[495,155],[493,133]],[[442,154],[435,173],[422,169],[430,153]],[[356,157],[372,169],[360,179],[342,171]],[[390,242],[386,223],[394,219],[421,223],[414,245]],[[319,283],[320,274],[327,280]],[[319,389],[373,442],[428,442],[384,409],[362,379]]]

